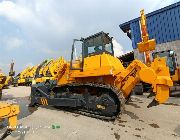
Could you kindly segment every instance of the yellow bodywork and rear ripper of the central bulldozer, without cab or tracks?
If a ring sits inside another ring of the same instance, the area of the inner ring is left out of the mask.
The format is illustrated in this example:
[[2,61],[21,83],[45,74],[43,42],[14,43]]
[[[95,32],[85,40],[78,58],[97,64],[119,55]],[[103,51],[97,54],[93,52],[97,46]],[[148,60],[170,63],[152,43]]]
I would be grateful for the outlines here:
[[[61,67],[63,70],[59,70],[61,74],[58,75],[58,85],[72,82],[108,84],[122,90],[125,98],[138,82],[144,81],[152,84],[155,99],[162,103],[169,97],[169,86],[173,85],[164,58],[155,59],[149,67],[139,60],[134,60],[125,69],[118,58],[103,53],[84,58],[82,71],[70,70],[68,62]],[[162,96],[163,92],[166,94]]]

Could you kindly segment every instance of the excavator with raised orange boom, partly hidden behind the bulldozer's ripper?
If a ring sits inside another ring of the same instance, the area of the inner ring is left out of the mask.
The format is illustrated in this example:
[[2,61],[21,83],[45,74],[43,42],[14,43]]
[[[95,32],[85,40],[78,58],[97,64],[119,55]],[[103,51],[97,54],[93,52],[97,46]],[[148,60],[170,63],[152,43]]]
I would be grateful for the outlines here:
[[[166,65],[169,68],[171,79],[174,83],[174,86],[170,88],[170,96],[180,94],[180,67],[177,64],[176,54],[173,50],[166,50],[166,51],[154,51],[155,50],[155,40],[149,40],[149,35],[147,32],[147,24],[146,24],[146,16],[144,15],[144,10],[141,11],[141,39],[142,42],[138,43],[138,50],[139,52],[144,52],[145,54],[145,61],[147,65],[151,64],[151,59],[154,60],[156,58],[166,58]],[[154,51],[152,53],[152,58],[150,55],[150,51]],[[151,85],[140,82],[138,83],[133,93],[137,95],[142,95],[144,92],[152,93]],[[152,94],[151,94],[152,95]],[[151,96],[150,95],[150,96]],[[149,96],[149,97],[150,97]]]

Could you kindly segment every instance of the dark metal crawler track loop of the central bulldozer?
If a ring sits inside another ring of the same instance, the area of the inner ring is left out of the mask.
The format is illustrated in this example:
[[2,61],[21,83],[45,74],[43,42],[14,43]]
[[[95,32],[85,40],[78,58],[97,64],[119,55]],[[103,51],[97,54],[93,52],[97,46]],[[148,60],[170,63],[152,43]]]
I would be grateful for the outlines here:
[[[111,85],[104,85],[104,84],[99,84],[99,83],[71,83],[71,84],[66,84],[66,85],[61,85],[61,86],[57,86],[57,85],[51,85],[50,83],[48,85],[43,84],[43,86],[49,87],[49,89],[51,91],[53,91],[53,89],[57,89],[57,90],[61,90],[63,88],[68,88],[68,89],[76,89],[77,88],[99,88],[100,90],[106,89],[105,91],[111,91],[109,93],[104,93],[102,92],[101,94],[106,94],[106,95],[116,95],[113,96],[115,98],[113,98],[115,104],[117,105],[117,109],[116,110],[112,110],[111,114],[106,114],[106,113],[102,113],[101,111],[99,111],[97,108],[88,108],[88,106],[81,106],[81,107],[75,107],[75,108],[71,108],[70,112],[73,113],[77,113],[77,114],[81,114],[81,115],[85,115],[88,117],[92,117],[92,118],[98,118],[98,119],[102,119],[102,120],[114,120],[119,114],[121,114],[124,110],[124,105],[125,105],[125,101],[126,99],[123,96],[123,92],[118,90],[116,87],[113,87]],[[43,91],[41,89],[38,88],[38,85],[36,86],[38,91],[40,93],[43,93]],[[75,88],[74,88],[75,87]],[[58,92],[54,92],[54,94],[56,95]],[[50,93],[47,93],[50,94]],[[60,94],[63,94],[60,93]],[[72,92],[69,92],[68,94],[72,94]],[[78,93],[79,95],[83,95],[83,93]],[[95,94],[96,95],[96,94]],[[92,95],[90,95],[92,96]],[[61,97],[57,97],[57,98],[61,98]],[[36,103],[36,102],[35,102]],[[96,103],[97,104],[97,103]],[[50,104],[52,106],[56,106],[53,104]],[[62,106],[63,107],[63,106]],[[65,110],[68,109],[69,107],[63,107]]]

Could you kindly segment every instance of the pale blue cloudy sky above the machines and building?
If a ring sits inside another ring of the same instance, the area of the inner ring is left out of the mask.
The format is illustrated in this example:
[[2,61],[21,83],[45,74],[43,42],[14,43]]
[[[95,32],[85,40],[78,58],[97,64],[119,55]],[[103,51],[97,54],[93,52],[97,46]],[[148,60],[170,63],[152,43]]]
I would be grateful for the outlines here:
[[179,0],[0,0],[0,68],[18,74],[47,58],[70,59],[73,39],[100,31],[114,37],[116,56],[132,51],[119,24]]

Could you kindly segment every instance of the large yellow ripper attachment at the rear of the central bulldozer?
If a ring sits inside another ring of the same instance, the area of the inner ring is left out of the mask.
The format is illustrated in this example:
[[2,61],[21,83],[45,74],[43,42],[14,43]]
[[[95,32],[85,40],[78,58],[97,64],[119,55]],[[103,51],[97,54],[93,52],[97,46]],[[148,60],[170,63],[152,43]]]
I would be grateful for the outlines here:
[[173,86],[165,58],[155,59],[150,67],[139,60],[134,60],[116,77],[115,84],[123,91],[125,98],[131,95],[132,89],[140,81],[151,84],[155,99],[148,107],[164,103],[169,97],[169,87]]

